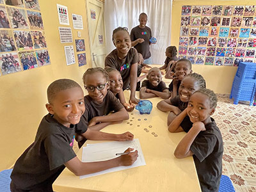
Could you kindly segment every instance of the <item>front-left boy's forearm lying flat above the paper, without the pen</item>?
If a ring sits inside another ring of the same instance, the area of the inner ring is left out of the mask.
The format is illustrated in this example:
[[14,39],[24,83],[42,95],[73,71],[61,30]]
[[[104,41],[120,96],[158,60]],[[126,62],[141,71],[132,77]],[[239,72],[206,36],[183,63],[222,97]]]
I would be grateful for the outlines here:
[[115,141],[131,141],[133,140],[133,134],[129,131],[123,134],[111,134],[108,132],[95,131],[87,129],[82,133],[82,136],[87,140],[115,140]]

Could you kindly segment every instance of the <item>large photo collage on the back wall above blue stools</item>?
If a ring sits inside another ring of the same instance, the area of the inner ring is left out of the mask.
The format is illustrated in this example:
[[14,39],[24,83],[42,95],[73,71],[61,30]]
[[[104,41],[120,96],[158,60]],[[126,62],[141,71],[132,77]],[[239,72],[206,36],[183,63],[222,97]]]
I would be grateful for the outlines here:
[[179,58],[237,67],[256,63],[255,5],[182,6]]

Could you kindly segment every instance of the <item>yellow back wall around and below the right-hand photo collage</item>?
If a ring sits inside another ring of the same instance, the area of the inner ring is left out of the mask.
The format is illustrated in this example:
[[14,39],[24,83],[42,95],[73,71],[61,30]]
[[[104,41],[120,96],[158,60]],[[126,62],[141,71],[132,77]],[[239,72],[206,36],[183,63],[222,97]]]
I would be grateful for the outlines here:
[[[252,1],[179,1],[174,0],[172,6],[172,45],[179,47],[179,33],[182,5],[253,5]],[[216,93],[230,94],[237,67],[193,65],[193,72],[201,74],[206,81],[207,88]]]

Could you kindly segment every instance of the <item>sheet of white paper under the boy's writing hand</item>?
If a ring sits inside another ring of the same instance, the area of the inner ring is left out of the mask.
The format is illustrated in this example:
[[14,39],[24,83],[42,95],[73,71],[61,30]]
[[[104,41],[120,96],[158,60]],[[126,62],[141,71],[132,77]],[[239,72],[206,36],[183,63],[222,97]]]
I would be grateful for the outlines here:
[[111,168],[108,170],[104,170],[102,172],[92,173],[88,175],[80,176],[80,179],[93,177],[96,175],[102,175],[105,173],[118,172],[120,170],[126,170],[129,168],[134,168],[136,166],[145,165],[145,159],[143,156],[143,152],[140,147],[139,139],[134,139],[132,141],[112,141],[106,143],[95,143],[95,144],[87,144],[86,147],[83,147],[83,162],[95,162],[95,161],[105,161],[108,159],[113,159],[116,156],[116,153],[122,153],[127,148],[134,148],[134,150],[138,150],[138,159],[131,166],[118,166],[115,168]]

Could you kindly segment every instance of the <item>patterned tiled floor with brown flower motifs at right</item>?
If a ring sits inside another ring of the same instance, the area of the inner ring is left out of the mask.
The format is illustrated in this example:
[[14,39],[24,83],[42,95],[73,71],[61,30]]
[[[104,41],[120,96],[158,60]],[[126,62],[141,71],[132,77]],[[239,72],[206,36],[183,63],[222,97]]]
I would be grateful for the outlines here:
[[256,106],[237,105],[227,95],[218,95],[212,117],[223,142],[223,175],[232,180],[236,192],[256,191]]

